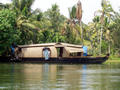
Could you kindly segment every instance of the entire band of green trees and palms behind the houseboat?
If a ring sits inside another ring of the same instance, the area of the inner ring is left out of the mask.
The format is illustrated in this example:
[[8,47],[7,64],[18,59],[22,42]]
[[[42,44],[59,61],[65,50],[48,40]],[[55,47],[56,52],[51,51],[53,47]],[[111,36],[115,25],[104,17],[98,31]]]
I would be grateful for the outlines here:
[[80,3],[68,9],[70,18],[67,18],[60,14],[56,4],[46,12],[33,11],[33,2],[0,3],[0,55],[8,55],[13,42],[22,45],[66,42],[86,45],[92,55],[120,56],[120,12],[115,12],[108,0],[102,0],[102,10],[96,11],[88,24],[81,21]]

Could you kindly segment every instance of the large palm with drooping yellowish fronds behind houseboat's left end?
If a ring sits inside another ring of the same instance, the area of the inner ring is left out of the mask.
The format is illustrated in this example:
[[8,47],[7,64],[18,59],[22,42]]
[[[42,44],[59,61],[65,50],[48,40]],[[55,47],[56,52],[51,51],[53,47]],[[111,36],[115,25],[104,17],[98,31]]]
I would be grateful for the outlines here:
[[[21,44],[36,43],[36,35],[40,31],[39,21],[33,18],[36,14],[31,10],[34,0],[13,0],[12,10],[16,12],[16,26],[21,32]],[[38,11],[38,13],[40,13]],[[37,16],[37,15],[36,15]],[[36,24],[37,23],[37,24]]]

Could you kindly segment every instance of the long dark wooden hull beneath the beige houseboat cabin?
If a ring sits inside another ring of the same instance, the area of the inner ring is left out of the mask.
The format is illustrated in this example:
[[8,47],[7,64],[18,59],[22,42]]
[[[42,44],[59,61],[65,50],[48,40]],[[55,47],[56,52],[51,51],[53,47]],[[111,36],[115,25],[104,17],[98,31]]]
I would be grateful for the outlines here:
[[108,57],[80,57],[80,58],[50,58],[45,60],[44,58],[21,58],[10,59],[1,58],[0,62],[28,62],[28,63],[57,63],[57,64],[101,64],[105,62]]

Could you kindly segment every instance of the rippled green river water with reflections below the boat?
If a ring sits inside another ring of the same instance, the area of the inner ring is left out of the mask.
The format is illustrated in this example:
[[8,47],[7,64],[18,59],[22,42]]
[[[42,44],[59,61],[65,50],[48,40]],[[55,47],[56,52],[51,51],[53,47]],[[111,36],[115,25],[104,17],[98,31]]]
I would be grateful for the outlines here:
[[0,64],[0,90],[120,90],[120,64]]

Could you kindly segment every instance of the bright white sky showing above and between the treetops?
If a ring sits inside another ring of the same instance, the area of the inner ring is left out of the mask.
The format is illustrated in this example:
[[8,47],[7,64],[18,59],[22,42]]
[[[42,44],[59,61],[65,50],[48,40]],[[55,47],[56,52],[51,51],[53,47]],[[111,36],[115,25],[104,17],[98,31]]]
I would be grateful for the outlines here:
[[[80,0],[82,3],[82,21],[89,23],[94,17],[94,12],[101,9],[101,0]],[[120,0],[109,0],[115,11],[120,9]],[[0,3],[10,3],[11,0],[0,0]],[[78,0],[35,0],[32,9],[39,8],[41,11],[46,11],[51,8],[53,4],[57,4],[60,9],[60,13],[69,18],[68,8],[76,5]]]

